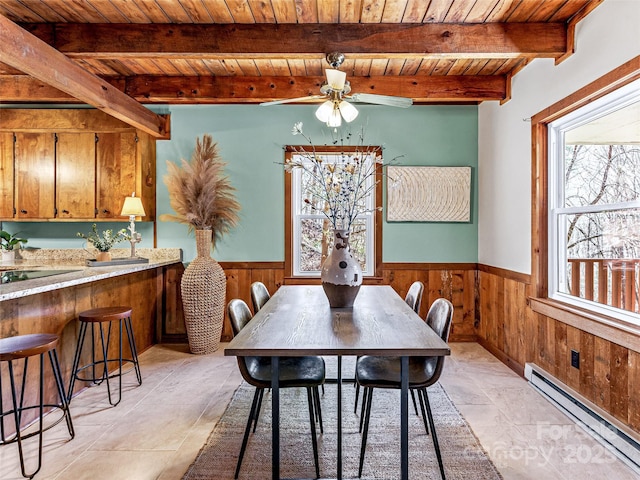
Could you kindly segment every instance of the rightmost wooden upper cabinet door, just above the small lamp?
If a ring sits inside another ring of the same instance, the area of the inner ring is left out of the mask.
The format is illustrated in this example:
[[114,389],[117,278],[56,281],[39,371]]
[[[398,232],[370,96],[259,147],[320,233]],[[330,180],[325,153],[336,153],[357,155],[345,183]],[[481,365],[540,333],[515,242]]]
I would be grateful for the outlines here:
[[97,218],[121,220],[124,197],[136,191],[136,134],[101,133],[97,148]]

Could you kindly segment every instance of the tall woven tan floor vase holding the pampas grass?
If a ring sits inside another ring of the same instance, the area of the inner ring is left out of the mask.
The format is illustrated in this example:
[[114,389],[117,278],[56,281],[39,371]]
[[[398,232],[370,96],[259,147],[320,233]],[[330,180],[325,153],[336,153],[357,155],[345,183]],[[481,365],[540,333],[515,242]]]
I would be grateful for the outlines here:
[[185,269],[180,284],[184,321],[191,353],[207,354],[220,346],[227,280],[211,258],[210,229],[196,230],[197,256]]

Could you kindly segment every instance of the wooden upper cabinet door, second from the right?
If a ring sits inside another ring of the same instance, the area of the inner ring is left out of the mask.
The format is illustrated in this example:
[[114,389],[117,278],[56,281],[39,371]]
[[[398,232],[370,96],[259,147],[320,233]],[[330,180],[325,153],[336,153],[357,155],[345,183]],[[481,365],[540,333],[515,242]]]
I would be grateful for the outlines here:
[[95,158],[95,134],[58,134],[56,145],[57,218],[95,218]]

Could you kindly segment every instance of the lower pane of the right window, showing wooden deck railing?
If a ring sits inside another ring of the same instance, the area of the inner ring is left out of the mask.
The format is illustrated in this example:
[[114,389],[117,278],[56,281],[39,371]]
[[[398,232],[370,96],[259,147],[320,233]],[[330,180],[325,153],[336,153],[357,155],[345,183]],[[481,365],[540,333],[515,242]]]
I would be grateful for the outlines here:
[[566,282],[559,290],[638,313],[640,209],[561,215]]

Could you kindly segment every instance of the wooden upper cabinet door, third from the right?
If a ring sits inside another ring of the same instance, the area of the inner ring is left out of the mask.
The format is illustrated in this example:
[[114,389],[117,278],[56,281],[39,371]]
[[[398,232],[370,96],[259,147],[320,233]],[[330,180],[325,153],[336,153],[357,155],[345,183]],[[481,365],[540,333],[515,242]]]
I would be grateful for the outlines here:
[[16,219],[53,218],[55,134],[16,133]]

